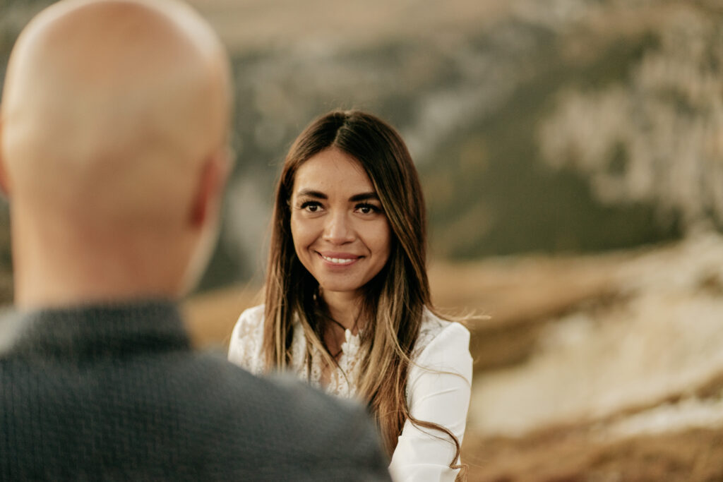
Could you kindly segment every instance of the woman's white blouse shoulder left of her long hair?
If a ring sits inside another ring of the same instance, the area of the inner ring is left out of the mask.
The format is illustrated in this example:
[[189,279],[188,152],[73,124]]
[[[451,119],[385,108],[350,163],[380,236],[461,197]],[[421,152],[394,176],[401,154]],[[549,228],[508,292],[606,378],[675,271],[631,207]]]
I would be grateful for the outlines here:
[[228,361],[253,374],[263,372],[262,345],[264,337],[264,306],[254,306],[241,313],[231,332]]

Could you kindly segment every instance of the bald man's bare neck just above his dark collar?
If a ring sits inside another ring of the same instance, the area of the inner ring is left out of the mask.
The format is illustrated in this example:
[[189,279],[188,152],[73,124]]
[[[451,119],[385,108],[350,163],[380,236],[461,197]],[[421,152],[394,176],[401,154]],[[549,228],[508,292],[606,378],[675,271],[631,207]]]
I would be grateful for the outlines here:
[[159,247],[122,233],[43,231],[12,231],[20,309],[178,296],[185,266],[174,241]]

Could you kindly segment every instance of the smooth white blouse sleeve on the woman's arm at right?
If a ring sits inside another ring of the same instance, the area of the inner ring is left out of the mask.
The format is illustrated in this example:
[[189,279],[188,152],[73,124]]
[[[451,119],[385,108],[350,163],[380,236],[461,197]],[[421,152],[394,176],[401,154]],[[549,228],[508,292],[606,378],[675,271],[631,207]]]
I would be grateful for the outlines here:
[[[419,354],[408,377],[412,417],[449,429],[462,443],[469,408],[472,357],[469,331],[450,323]],[[404,423],[389,470],[395,482],[454,481],[455,445],[443,432]]]

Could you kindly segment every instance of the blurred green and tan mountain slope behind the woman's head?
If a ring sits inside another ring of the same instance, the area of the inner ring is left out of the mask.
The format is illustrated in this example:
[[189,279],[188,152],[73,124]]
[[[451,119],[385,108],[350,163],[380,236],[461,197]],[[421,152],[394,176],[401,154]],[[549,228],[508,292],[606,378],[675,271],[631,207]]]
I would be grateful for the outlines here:
[[[4,50],[47,3],[4,0]],[[720,225],[714,1],[192,4],[228,43],[236,78],[238,162],[202,288],[259,279],[283,155],[331,108],[364,108],[400,129],[437,257],[619,249]],[[685,75],[671,77],[677,66]],[[652,186],[642,191],[630,182],[640,165]]]

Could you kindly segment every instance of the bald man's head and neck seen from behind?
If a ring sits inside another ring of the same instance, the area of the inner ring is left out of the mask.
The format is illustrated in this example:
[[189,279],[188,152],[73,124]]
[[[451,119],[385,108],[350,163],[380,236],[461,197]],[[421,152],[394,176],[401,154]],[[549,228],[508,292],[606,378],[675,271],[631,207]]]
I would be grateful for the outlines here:
[[231,80],[174,0],[63,0],[23,30],[0,104],[16,301],[178,294],[205,265]]

